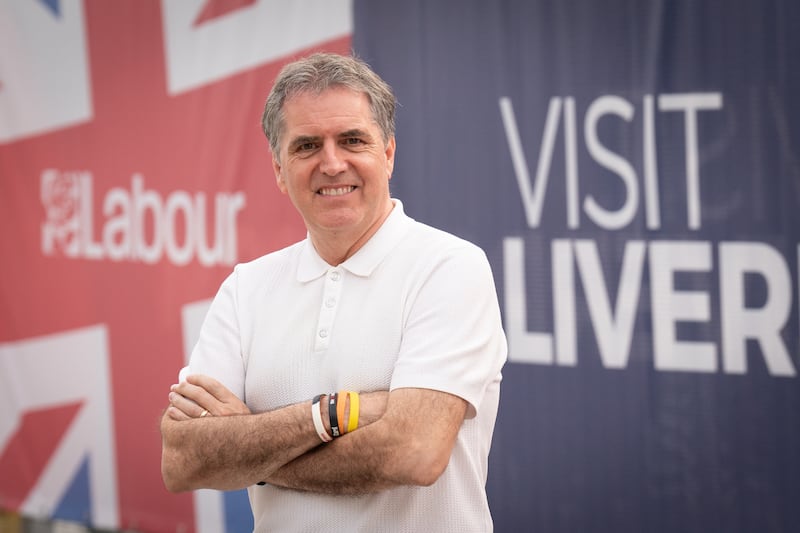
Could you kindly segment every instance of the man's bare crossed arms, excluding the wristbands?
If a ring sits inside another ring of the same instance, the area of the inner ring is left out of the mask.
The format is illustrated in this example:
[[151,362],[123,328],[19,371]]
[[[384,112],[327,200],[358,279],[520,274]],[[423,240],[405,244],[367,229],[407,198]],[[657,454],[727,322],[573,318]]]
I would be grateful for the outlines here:
[[[465,400],[430,389],[364,393],[358,429],[323,445],[311,400],[252,414],[218,381],[190,376],[173,387],[161,420],[162,475],[171,491],[260,481],[331,494],[431,485],[466,409]],[[203,410],[213,416],[201,417]]]

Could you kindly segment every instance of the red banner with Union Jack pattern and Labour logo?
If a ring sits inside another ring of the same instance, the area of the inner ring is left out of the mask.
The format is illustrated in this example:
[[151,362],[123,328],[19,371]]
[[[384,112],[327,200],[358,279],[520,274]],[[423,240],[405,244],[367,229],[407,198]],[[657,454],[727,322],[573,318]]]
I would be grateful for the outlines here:
[[0,508],[193,527],[158,421],[221,280],[304,235],[260,114],[288,59],[349,51],[318,4],[0,7]]

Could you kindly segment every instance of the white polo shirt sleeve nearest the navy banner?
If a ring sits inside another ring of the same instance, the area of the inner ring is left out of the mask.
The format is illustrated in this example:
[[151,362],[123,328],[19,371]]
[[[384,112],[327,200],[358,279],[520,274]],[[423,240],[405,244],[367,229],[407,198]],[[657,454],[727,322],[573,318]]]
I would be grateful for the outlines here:
[[440,251],[411,302],[391,389],[440,390],[480,408],[500,380],[507,345],[491,267],[484,252],[464,242]]

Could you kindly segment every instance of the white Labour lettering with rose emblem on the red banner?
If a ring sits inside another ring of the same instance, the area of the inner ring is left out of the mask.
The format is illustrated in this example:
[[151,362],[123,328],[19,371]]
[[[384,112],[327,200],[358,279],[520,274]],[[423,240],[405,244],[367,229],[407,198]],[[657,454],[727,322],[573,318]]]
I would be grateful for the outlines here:
[[[42,253],[60,250],[66,257],[90,260],[143,261],[164,256],[175,265],[195,257],[204,266],[233,264],[237,256],[236,219],[244,208],[244,193],[214,197],[214,240],[206,236],[206,196],[173,191],[162,198],[134,174],[131,188],[113,188],[102,203],[104,224],[95,240],[93,178],[90,172],[47,169],[41,175]],[[210,214],[209,214],[210,215]]]

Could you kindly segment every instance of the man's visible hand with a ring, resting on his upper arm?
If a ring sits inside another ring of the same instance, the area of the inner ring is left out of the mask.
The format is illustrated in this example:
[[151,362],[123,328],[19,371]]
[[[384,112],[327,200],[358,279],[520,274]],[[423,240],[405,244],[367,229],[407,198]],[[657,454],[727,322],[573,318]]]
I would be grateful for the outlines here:
[[216,379],[192,375],[170,387],[166,415],[172,420],[203,416],[249,415],[250,409]]

